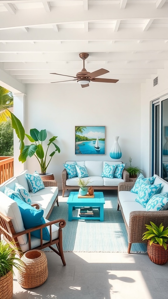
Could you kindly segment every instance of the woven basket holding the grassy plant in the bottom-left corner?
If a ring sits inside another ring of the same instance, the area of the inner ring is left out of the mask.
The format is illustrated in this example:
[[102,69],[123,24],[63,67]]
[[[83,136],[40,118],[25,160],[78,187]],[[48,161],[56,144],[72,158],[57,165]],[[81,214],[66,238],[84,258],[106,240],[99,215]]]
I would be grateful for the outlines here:
[[0,278],[0,298],[12,299],[13,297],[13,274],[9,271]]

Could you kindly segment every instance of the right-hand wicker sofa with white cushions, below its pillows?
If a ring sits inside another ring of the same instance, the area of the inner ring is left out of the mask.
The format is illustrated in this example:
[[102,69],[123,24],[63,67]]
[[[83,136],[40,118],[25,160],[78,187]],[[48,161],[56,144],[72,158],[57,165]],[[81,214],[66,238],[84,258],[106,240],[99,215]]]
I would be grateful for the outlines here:
[[[154,184],[162,184],[160,193],[168,192],[167,181],[154,175]],[[118,185],[118,207],[121,210],[126,230],[128,233],[128,253],[130,253],[132,243],[144,243],[142,234],[146,231],[145,224],[150,224],[150,221],[156,225],[163,223],[168,226],[168,210],[162,211],[146,211],[146,208],[136,202],[136,193],[130,192],[135,182],[120,183]]]

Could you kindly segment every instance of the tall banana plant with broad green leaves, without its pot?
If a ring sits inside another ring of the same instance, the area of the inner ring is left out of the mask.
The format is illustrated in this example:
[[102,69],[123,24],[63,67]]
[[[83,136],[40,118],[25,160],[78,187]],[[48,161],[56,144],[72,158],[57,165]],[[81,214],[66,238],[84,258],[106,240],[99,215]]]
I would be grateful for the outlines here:
[[[41,168],[41,174],[45,174],[47,167],[54,156],[56,152],[60,153],[60,148],[55,144],[55,140],[58,136],[53,136],[48,140],[48,147],[46,149],[46,152],[43,149],[43,141],[47,139],[47,131],[41,130],[38,131],[37,129],[30,129],[30,135],[25,133],[25,129],[22,126],[21,121],[12,113],[11,114],[11,120],[12,120],[12,127],[16,131],[16,135],[18,136],[20,140],[20,155],[19,155],[19,161],[24,163],[28,157],[32,157],[33,155],[37,158],[40,164]],[[32,144],[25,145],[24,144],[24,138],[25,136],[28,138]],[[47,161],[47,154],[48,154],[48,148],[49,146],[53,144],[54,145],[54,151],[49,154],[49,161]]]

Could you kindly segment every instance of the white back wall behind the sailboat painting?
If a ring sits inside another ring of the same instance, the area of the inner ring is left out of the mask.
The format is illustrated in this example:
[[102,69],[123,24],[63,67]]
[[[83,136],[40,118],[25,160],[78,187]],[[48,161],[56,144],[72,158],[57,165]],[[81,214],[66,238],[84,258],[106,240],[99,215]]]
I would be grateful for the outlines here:
[[[47,172],[54,173],[59,189],[66,160],[111,160],[113,136],[120,136],[120,160],[129,165],[131,156],[132,165],[140,167],[140,84],[27,84],[26,94],[25,131],[29,134],[35,127],[46,129],[49,138],[58,136],[61,152]],[[106,155],[75,155],[75,126],[92,125],[106,126]],[[40,172],[35,157],[28,158],[25,167]]]

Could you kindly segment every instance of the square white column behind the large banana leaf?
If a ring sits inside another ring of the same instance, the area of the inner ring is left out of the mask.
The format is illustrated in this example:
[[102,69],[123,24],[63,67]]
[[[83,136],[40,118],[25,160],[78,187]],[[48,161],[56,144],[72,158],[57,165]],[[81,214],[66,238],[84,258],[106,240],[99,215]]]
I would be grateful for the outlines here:
[[[15,93],[13,94],[13,114],[19,118],[21,121],[23,127],[25,128],[25,102],[26,102],[26,94],[22,93]],[[13,132],[13,148],[14,148],[14,176],[21,173],[23,170],[25,170],[25,163],[19,162],[19,150],[20,142],[19,138],[16,135],[16,132],[14,130]]]

